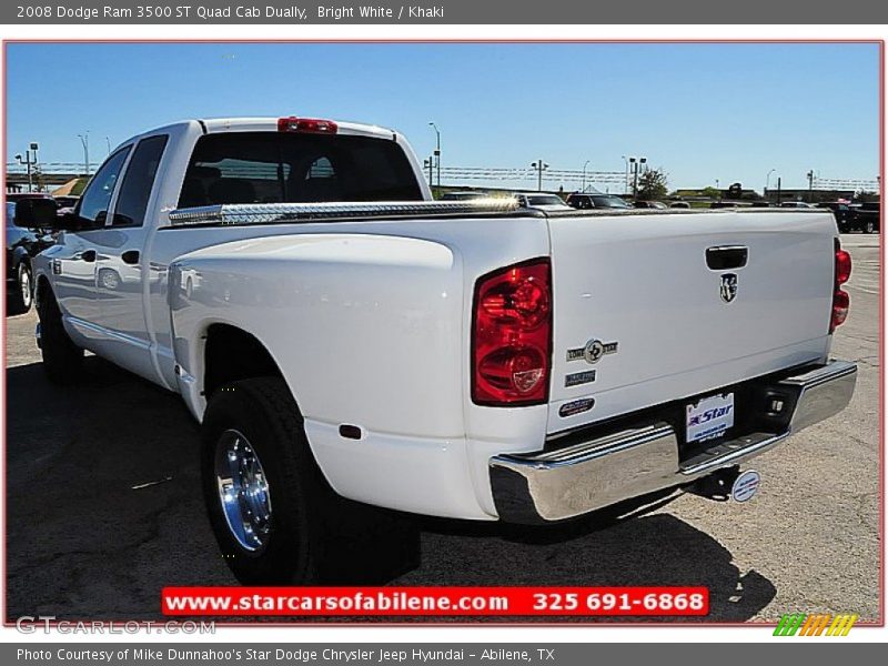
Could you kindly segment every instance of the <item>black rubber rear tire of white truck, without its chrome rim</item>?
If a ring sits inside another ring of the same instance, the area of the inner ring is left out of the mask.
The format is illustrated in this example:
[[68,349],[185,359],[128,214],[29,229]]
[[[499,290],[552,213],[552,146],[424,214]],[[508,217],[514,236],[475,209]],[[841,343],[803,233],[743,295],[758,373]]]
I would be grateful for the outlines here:
[[[273,508],[264,543],[244,547],[229,527],[219,494],[216,448],[226,432],[255,452]],[[299,412],[281,379],[232,382],[210,398],[202,425],[204,502],[222,556],[245,585],[316,582],[323,554],[323,513],[337,500],[309,448]]]

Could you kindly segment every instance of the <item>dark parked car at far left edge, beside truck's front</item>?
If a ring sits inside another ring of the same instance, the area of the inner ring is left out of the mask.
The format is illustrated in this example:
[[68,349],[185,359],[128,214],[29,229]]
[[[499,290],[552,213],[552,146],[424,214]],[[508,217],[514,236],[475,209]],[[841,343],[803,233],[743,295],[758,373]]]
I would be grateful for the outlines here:
[[24,314],[31,309],[34,295],[31,259],[54,242],[47,230],[19,226],[16,221],[18,206],[30,206],[37,199],[48,196],[22,196],[18,202],[6,203],[7,238],[7,314]]

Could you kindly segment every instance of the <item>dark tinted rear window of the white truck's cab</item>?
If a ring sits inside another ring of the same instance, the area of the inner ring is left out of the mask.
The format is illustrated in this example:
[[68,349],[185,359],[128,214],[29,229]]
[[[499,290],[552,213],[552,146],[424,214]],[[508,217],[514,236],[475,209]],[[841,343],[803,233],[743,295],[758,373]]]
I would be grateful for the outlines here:
[[420,201],[404,151],[369,137],[232,132],[202,137],[179,208],[220,203]]

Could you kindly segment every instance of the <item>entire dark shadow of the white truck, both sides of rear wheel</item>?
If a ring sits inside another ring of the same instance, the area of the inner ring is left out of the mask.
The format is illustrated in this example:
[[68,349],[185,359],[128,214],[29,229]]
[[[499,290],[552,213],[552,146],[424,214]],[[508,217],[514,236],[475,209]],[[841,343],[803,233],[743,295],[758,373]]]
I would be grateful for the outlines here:
[[[95,357],[77,386],[52,386],[34,363],[8,369],[7,389],[7,620],[157,619],[165,585],[236,584],[204,515],[198,426],[178,396]],[[668,513],[555,527],[406,522],[411,544],[400,552],[415,542],[421,557],[387,562],[386,575],[377,567],[384,557],[361,551],[343,559],[340,583],[707,586],[710,614],[690,622],[744,622],[776,594]],[[533,620],[595,622],[502,618]]]

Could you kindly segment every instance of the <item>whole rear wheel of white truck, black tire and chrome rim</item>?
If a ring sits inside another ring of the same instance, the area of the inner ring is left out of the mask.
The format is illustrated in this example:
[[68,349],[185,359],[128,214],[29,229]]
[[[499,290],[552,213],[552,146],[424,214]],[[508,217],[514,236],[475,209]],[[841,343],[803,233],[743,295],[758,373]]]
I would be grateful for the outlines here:
[[202,425],[201,473],[216,542],[241,583],[316,581],[320,513],[333,493],[282,380],[232,382],[213,393]]

